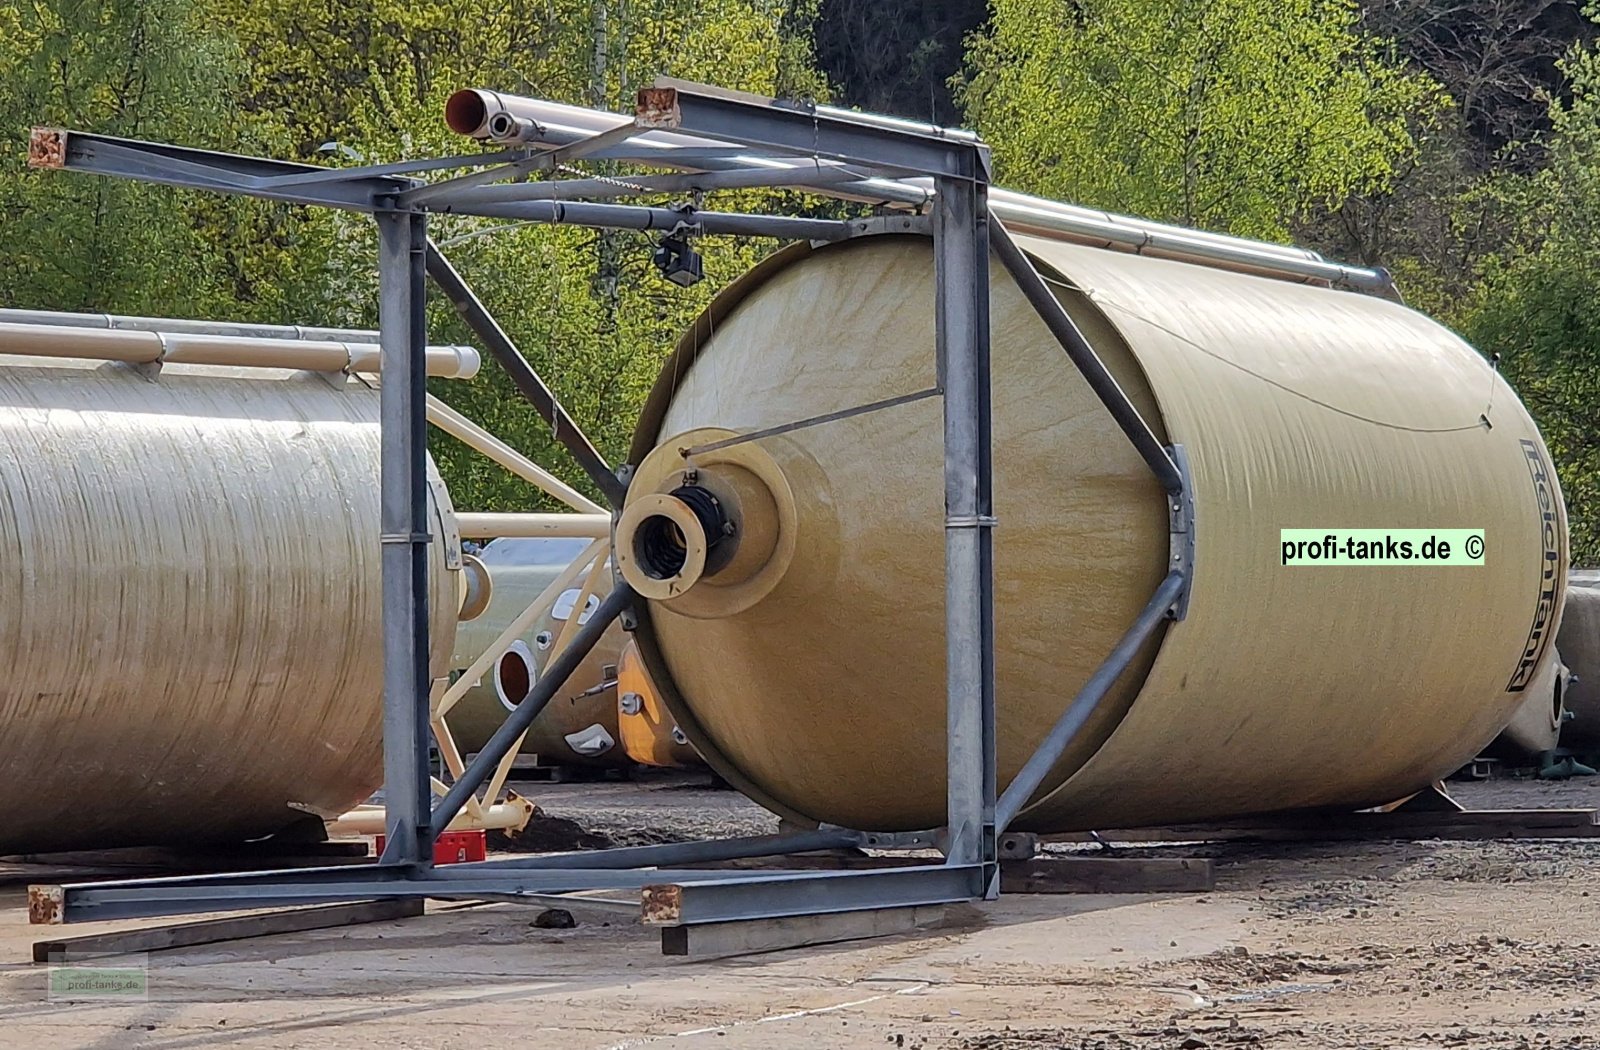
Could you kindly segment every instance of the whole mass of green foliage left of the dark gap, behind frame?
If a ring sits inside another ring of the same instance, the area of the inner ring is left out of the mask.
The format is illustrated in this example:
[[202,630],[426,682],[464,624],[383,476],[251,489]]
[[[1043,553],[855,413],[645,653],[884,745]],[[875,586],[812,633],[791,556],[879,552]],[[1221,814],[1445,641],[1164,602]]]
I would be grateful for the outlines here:
[[[462,86],[610,109],[658,74],[826,96],[814,0],[0,0],[0,303],[312,325],[376,323],[376,237],[360,216],[24,170],[56,123],[325,165],[470,152],[443,123]],[[749,200],[749,195],[746,197]],[[440,216],[435,240],[621,461],[645,392],[715,287],[662,282],[643,235]],[[712,279],[770,245],[706,238]],[[432,303],[435,341],[475,343]],[[587,487],[493,363],[435,392]],[[525,483],[451,439],[456,501],[518,509]]]

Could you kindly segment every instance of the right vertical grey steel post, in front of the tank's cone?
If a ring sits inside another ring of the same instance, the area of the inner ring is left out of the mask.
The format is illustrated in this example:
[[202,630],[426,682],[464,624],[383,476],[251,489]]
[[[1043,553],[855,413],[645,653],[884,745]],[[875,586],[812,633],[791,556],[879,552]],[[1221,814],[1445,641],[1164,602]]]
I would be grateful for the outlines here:
[[989,192],[934,182],[934,323],[944,381],[944,643],[950,864],[995,863],[994,496],[989,435]]

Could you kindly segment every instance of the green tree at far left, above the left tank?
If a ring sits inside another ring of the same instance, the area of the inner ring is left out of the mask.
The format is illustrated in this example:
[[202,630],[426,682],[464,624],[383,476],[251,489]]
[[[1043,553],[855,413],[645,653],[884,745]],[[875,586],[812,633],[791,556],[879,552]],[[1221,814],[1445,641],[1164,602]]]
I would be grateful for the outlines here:
[[214,141],[232,54],[189,0],[0,6],[0,303],[205,312],[219,291],[170,190],[26,168],[30,125]]

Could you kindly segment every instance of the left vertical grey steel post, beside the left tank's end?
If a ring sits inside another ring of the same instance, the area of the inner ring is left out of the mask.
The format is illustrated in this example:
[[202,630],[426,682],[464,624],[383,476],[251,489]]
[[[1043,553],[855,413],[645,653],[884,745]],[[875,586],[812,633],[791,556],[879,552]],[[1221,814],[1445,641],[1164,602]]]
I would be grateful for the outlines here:
[[427,317],[421,213],[378,211],[382,365],[384,807],[382,863],[430,864],[427,775]]

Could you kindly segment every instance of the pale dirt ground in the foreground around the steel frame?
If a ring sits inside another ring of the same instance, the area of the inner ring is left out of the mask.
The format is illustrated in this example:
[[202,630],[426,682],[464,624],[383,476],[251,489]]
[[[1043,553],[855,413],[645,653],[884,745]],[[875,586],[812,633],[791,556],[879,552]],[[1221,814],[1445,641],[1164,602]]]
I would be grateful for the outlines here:
[[[1597,781],[1453,788],[1600,807]],[[680,783],[523,791],[621,842],[768,821]],[[530,906],[446,904],[152,954],[147,1002],[50,1000],[11,884],[0,1047],[1600,1047],[1600,839],[1158,850],[1214,856],[1216,892],[1010,896],[918,935],[720,960],[664,959],[618,912],[552,930]]]

